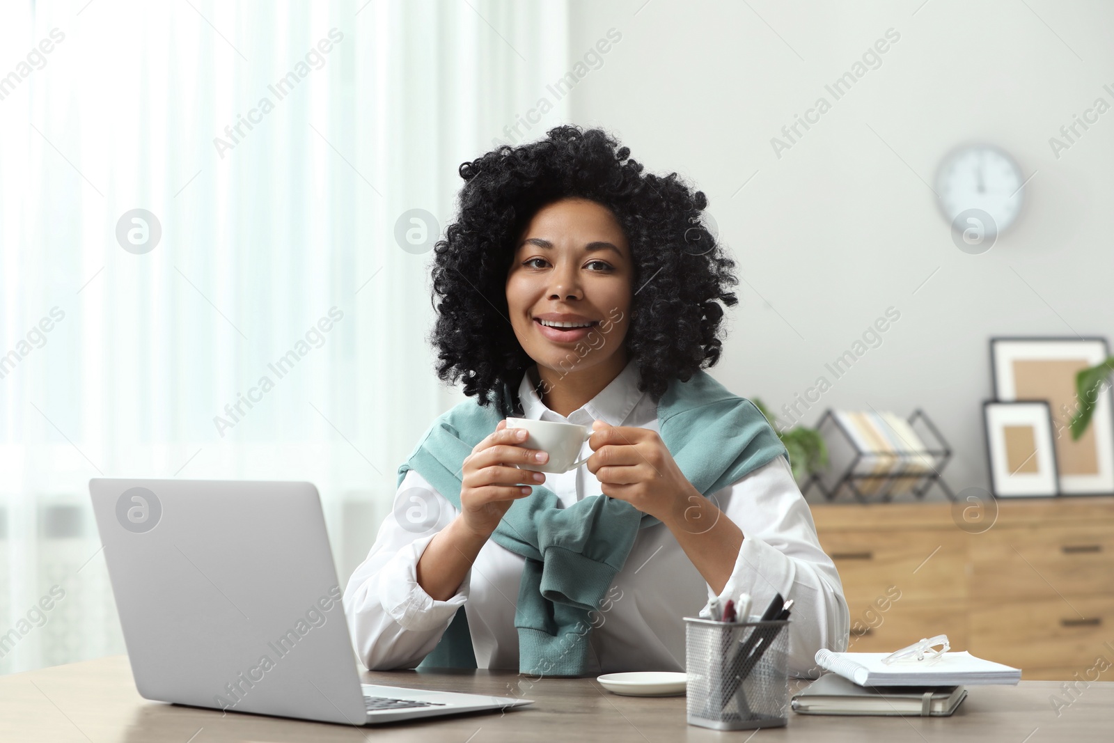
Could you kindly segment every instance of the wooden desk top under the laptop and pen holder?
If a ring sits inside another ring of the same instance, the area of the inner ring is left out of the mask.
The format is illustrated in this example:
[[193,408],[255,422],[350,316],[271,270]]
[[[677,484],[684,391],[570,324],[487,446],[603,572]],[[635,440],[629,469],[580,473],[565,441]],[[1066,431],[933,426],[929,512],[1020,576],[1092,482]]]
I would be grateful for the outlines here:
[[[509,671],[367,673],[367,683],[515,695],[528,676]],[[797,686],[807,682],[797,682]],[[832,717],[790,712],[789,726],[760,731],[756,741],[1108,741],[1114,683],[1082,688],[1057,717],[1048,702],[1056,682],[975,686],[952,717]],[[0,677],[0,741],[213,743],[215,741],[507,741],[620,743],[746,741],[754,731],[716,732],[685,722],[685,700],[616,696],[594,678],[548,678],[525,694],[528,707],[375,727],[310,723],[147,702],[136,693],[126,656]],[[1034,734],[1034,730],[1036,733]]]

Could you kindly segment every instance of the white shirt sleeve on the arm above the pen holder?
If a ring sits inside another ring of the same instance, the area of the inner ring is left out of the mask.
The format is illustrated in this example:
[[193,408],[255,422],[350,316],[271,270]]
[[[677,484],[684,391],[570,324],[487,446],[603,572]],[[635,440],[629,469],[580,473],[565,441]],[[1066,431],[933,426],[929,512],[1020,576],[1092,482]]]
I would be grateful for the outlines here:
[[[784,457],[713,495],[743,532],[734,568],[719,598],[751,595],[761,614],[780,593],[794,604],[790,618],[789,673],[815,678],[817,651],[847,649],[850,613],[836,564],[820,547],[812,511]],[[709,599],[716,595],[707,587]],[[709,615],[705,606],[703,615]]]

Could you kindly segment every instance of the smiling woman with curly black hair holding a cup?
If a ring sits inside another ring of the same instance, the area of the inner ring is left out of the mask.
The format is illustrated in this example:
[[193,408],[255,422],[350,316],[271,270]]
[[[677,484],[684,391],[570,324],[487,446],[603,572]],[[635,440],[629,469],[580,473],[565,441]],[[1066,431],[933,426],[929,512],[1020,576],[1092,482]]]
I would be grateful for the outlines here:
[[[344,606],[364,664],[577,676],[684,671],[682,617],[795,599],[790,671],[844,649],[848,608],[784,447],[702,370],[737,283],[706,199],[561,126],[465,163],[436,246],[441,380],[476,400],[399,468]],[[519,417],[588,426],[579,468],[535,473]],[[424,658],[424,661],[423,661]]]

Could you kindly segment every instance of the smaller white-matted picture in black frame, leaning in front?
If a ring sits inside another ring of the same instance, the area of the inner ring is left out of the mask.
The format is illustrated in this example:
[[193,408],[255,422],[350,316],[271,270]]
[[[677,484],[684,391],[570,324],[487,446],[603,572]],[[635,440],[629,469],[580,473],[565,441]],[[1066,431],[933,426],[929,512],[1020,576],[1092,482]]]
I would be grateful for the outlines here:
[[996,498],[1059,491],[1052,414],[1044,400],[983,403],[990,489]]

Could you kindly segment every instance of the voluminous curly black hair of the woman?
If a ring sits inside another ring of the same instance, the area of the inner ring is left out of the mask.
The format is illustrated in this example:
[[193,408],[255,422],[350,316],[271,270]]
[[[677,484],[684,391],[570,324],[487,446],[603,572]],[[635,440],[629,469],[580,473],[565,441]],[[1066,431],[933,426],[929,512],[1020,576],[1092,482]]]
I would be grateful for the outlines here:
[[603,129],[558,126],[537,141],[502,145],[461,164],[466,183],[457,219],[433,247],[437,321],[429,341],[438,350],[441,381],[463,379],[466,395],[512,414],[504,410],[501,385],[517,400],[534,360],[506,319],[507,272],[538,209],[567,197],[609,208],[631,246],[633,286],[641,289],[625,345],[638,365],[638,390],[657,402],[670,381],[688,381],[720,360],[724,312],[716,300],[737,303],[727,291],[739,283],[735,262],[701,219],[703,192],[690,189],[676,173],[644,174],[629,155]]

